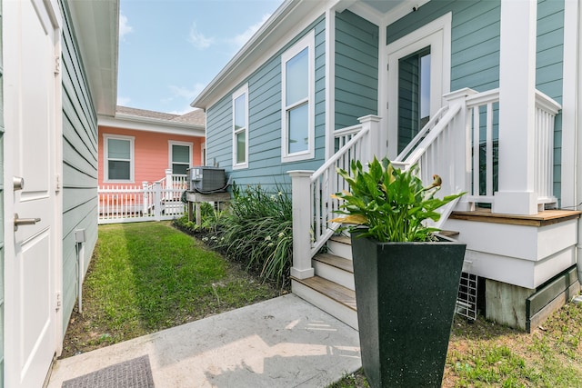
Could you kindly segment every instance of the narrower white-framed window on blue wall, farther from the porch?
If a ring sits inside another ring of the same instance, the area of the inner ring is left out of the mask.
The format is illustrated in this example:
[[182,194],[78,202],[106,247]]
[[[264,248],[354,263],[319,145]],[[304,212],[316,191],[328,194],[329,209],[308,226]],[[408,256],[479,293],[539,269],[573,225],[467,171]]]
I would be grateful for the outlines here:
[[248,86],[233,95],[233,168],[248,167]]

